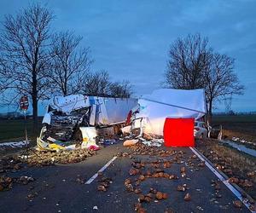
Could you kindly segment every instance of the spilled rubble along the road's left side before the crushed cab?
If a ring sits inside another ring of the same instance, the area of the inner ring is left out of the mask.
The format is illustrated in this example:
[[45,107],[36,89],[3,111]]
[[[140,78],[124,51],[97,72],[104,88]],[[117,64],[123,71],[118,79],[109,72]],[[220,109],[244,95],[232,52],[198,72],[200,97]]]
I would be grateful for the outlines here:
[[[30,152],[27,155],[16,154],[12,157],[0,159],[0,191],[8,191],[16,184],[26,185],[35,181],[32,176],[15,176],[16,171],[27,167],[52,166],[55,164],[75,164],[95,155],[96,151],[88,149],[61,150],[60,152]],[[78,179],[79,180],[79,177]],[[82,182],[82,181],[81,181]]]

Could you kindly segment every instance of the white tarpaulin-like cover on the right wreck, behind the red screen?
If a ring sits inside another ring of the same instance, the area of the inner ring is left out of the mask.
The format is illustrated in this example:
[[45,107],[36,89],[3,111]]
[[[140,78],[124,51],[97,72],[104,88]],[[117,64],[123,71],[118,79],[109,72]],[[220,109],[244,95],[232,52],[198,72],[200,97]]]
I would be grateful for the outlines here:
[[[147,118],[145,132],[163,135],[166,118],[201,118],[206,113],[204,89],[157,89],[138,100],[136,118]],[[136,124],[137,126],[137,124]]]

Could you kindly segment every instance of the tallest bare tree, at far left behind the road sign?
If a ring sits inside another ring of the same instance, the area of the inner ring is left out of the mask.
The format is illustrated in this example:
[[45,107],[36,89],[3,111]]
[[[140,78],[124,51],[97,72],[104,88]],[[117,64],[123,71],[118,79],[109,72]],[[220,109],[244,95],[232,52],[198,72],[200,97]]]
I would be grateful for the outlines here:
[[13,102],[30,95],[34,130],[38,125],[38,100],[48,92],[49,25],[53,14],[32,4],[16,15],[7,15],[0,36],[0,91],[3,101]]

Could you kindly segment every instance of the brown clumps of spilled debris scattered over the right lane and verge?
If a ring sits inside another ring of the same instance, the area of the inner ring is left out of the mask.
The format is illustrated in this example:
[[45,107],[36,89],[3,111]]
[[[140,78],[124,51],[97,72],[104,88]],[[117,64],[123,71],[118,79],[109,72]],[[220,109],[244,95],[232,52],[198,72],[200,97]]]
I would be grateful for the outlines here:
[[[165,192],[161,192],[159,189],[150,188],[147,192],[143,185],[144,181],[149,181],[152,178],[160,178],[167,180],[177,180],[183,178],[183,180],[190,180],[188,177],[188,172],[192,170],[204,170],[206,164],[204,161],[201,161],[195,154],[189,156],[189,158],[184,162],[184,152],[175,151],[173,149],[161,149],[159,147],[149,147],[142,142],[137,142],[135,145],[128,147],[127,153],[119,153],[119,156],[122,157],[130,157],[132,158],[131,168],[128,170],[129,177],[125,179],[124,187],[127,193],[135,193],[137,194],[138,202],[134,204],[134,210],[137,212],[147,212],[147,206],[150,203],[160,202],[160,200],[168,199],[168,197],[172,197]],[[149,158],[152,159],[141,159],[139,155],[148,155]],[[162,158],[161,158],[162,157]],[[166,158],[167,157],[167,158]],[[171,158],[170,158],[171,157]],[[212,158],[216,158],[216,155],[213,155]],[[218,156],[219,158],[219,156]],[[229,165],[224,162],[224,158],[222,158],[223,162],[221,166],[226,166],[223,169],[230,169]],[[179,169],[179,174],[172,174],[172,171],[168,170],[168,168],[172,168],[173,164],[183,164],[185,166],[181,166]],[[218,161],[219,163],[219,161]],[[224,164],[225,163],[225,164]],[[231,169],[230,169],[231,170]],[[247,172],[247,179],[241,180],[236,176],[231,176],[229,181],[236,182],[238,185],[242,183],[244,186],[252,187],[252,181],[249,181],[249,178],[255,176],[255,172]],[[222,183],[219,180],[212,180],[210,182],[212,185],[213,192],[212,196],[214,204],[218,204],[219,201],[217,199],[221,199],[223,197],[221,193]],[[193,200],[193,193],[189,190],[189,186],[184,184],[177,185],[178,192],[183,193],[183,201],[190,202]],[[196,189],[197,192],[200,192],[201,189]],[[255,208],[254,204],[249,201],[250,208]],[[242,208],[241,201],[234,201],[234,205],[237,208]],[[224,208],[223,205],[219,205],[220,208]],[[201,206],[196,207],[198,210],[203,210]],[[225,207],[226,208],[226,207]],[[172,210],[166,210],[166,212],[173,212]]]

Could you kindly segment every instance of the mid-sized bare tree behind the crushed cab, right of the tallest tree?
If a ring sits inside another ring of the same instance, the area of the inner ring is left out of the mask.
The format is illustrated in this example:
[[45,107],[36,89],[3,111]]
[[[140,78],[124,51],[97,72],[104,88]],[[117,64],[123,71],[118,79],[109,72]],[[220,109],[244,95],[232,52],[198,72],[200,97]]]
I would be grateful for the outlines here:
[[53,89],[61,95],[70,95],[81,91],[88,75],[92,60],[89,48],[80,48],[82,37],[73,32],[56,33],[52,39],[52,80]]

